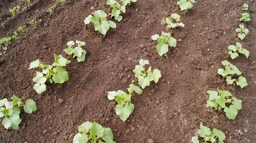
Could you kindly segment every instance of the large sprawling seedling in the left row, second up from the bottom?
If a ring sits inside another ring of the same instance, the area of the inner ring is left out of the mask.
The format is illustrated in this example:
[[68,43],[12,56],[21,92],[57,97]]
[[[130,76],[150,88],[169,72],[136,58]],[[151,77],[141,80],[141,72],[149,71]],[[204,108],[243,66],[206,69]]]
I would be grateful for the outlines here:
[[69,79],[67,71],[62,67],[69,64],[70,60],[65,59],[61,55],[53,55],[55,61],[52,65],[44,65],[39,59],[30,63],[29,69],[39,67],[42,70],[42,72],[37,71],[37,75],[33,78],[33,81],[36,83],[33,88],[38,94],[46,90],[46,82],[64,83]]

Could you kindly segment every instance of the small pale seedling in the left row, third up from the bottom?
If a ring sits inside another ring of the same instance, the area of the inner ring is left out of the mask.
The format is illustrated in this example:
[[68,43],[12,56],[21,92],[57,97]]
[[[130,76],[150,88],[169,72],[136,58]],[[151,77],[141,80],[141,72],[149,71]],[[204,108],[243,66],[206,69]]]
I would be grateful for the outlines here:
[[67,53],[67,54],[74,54],[74,56],[73,57],[77,57],[77,60],[78,60],[78,62],[81,62],[81,61],[83,61],[84,62],[84,59],[85,59],[85,54],[86,54],[86,51],[85,50],[83,50],[82,48],[81,48],[81,46],[84,46],[85,45],[85,42],[81,42],[81,41],[79,41],[79,40],[76,40],[76,47],[75,48],[73,48],[74,47],[74,45],[75,45],[75,42],[74,41],[69,41],[68,43],[67,43],[67,48],[66,49],[64,49],[64,51]]

